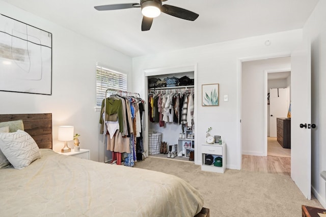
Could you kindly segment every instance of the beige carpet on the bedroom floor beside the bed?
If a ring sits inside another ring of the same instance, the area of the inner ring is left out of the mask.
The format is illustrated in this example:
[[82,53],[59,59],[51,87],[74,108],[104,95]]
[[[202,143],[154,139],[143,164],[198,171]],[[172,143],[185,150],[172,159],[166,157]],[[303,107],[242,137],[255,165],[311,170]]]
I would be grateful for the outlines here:
[[307,200],[290,176],[227,169],[224,174],[201,171],[199,165],[146,158],[135,167],[176,175],[204,197],[210,217],[301,216],[301,205],[322,207]]

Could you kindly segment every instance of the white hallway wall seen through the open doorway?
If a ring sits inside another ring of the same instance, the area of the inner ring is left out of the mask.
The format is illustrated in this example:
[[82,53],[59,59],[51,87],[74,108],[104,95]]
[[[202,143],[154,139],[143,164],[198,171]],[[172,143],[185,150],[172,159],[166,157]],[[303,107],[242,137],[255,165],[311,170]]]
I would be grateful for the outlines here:
[[[281,70],[291,67],[290,57],[278,57],[242,63],[242,153],[266,155],[267,117],[265,108],[266,70]],[[284,82],[286,85],[286,82]],[[269,90],[268,90],[269,91]]]

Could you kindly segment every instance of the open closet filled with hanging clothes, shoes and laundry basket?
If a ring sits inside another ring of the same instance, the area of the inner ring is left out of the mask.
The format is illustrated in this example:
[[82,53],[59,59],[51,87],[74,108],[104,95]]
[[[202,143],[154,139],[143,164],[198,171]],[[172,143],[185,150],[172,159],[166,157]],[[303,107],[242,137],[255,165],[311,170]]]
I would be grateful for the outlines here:
[[186,67],[183,70],[172,69],[170,72],[157,69],[154,70],[156,72],[145,72],[148,96],[148,136],[145,139],[149,157],[197,162],[197,96],[194,69]]

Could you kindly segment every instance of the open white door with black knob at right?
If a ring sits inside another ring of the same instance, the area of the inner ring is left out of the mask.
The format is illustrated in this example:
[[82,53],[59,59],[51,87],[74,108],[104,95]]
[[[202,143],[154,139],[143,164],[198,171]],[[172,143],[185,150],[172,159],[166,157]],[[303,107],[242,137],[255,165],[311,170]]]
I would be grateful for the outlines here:
[[291,178],[311,199],[311,54],[303,43],[291,54]]

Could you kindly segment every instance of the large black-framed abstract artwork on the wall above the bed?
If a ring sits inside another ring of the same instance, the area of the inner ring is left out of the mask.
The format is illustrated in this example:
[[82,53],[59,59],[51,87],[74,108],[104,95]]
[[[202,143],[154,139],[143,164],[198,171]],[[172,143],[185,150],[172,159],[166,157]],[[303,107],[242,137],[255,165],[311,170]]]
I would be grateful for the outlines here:
[[52,34],[0,14],[0,90],[52,94]]

